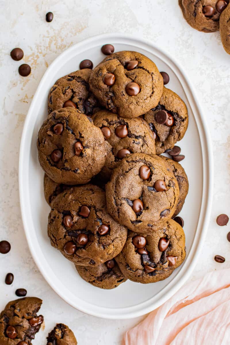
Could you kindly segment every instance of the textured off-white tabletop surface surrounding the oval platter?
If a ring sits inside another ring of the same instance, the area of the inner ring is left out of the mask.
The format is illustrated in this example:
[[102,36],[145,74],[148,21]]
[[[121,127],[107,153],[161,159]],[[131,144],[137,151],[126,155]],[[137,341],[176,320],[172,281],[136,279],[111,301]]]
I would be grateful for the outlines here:
[[[51,23],[45,21],[48,11],[54,13]],[[30,255],[20,214],[18,158],[23,123],[34,92],[47,67],[63,50],[99,33],[122,32],[147,38],[184,66],[203,106],[214,155],[212,213],[206,242],[191,276],[195,279],[207,271],[230,267],[230,243],[226,239],[230,223],[219,227],[215,221],[220,213],[230,216],[230,56],[222,48],[219,32],[201,33],[184,21],[177,0],[0,0],[0,26],[0,240],[9,240],[12,246],[9,254],[0,254],[0,310],[16,297],[16,288],[25,287],[28,295],[44,301],[41,312],[46,327],[34,345],[45,343],[56,322],[69,325],[79,345],[120,344],[124,331],[142,318],[110,321],[78,312],[51,290]],[[9,56],[15,47],[24,51],[19,62]],[[23,62],[32,69],[26,78],[18,74]],[[223,255],[226,262],[216,263],[216,254]],[[12,286],[4,284],[8,272],[15,276]]]

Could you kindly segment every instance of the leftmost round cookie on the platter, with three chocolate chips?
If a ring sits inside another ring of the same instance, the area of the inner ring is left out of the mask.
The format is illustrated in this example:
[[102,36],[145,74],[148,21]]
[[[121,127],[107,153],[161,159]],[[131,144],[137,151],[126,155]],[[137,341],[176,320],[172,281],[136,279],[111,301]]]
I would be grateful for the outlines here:
[[51,112],[38,133],[38,158],[56,183],[84,184],[97,175],[106,161],[100,128],[77,109]]

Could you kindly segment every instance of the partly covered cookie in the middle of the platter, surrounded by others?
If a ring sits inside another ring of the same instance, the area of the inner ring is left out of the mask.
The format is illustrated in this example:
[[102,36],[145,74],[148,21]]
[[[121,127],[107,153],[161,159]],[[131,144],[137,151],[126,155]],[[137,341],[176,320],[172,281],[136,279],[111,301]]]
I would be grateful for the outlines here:
[[97,112],[92,118],[106,139],[106,163],[100,172],[104,179],[110,179],[113,169],[126,155],[136,152],[150,155],[156,153],[154,136],[143,119],[124,119],[107,110]]

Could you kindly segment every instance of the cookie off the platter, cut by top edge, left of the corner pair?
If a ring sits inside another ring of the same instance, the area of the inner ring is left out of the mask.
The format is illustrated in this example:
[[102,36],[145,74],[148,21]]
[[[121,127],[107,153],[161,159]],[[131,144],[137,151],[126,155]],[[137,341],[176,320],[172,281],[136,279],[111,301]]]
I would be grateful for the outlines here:
[[179,0],[184,19],[198,31],[213,32],[219,30],[220,12],[217,0]]

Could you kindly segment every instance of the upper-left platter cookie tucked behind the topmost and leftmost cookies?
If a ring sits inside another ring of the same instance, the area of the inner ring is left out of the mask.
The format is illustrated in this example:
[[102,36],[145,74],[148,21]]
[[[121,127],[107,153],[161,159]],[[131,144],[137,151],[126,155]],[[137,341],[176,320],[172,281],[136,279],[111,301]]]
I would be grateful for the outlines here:
[[89,91],[91,73],[91,69],[84,68],[58,79],[49,93],[49,114],[53,110],[72,106],[86,115],[92,115],[98,101]]

